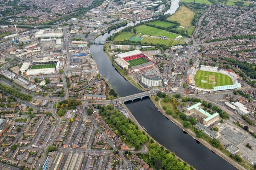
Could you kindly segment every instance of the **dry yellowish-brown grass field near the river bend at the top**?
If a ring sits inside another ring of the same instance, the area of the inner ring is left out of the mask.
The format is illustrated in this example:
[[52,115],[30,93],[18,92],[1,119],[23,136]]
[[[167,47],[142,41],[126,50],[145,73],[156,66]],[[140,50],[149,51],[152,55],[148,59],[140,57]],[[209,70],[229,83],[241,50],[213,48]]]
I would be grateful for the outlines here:
[[174,13],[174,15],[168,18],[169,21],[177,21],[180,25],[190,26],[195,13],[185,6],[181,6],[180,9]]

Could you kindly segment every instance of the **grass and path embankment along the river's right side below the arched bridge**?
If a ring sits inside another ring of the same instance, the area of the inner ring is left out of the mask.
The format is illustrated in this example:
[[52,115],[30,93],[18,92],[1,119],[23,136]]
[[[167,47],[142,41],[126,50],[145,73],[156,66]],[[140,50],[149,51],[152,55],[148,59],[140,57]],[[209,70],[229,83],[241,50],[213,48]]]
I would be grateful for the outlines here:
[[186,129],[183,127],[183,124],[181,124],[179,121],[177,121],[177,119],[173,118],[171,115],[167,115],[165,113],[165,110],[162,109],[162,107],[156,103],[155,100],[153,100],[153,98],[151,98],[152,102],[155,104],[155,106],[160,110],[160,112],[162,112],[166,118],[170,119],[172,122],[174,122],[178,127],[180,127],[182,130],[186,131],[186,133],[188,133],[191,137],[194,137],[196,140],[198,140],[198,142],[202,143],[204,146],[206,146],[208,149],[210,149],[211,151],[215,152],[216,154],[218,154],[221,158],[223,158],[224,160],[226,160],[227,162],[229,162],[230,164],[232,164],[234,167],[236,167],[237,169],[244,169],[244,167],[242,167],[240,164],[238,164],[237,162],[233,161],[232,159],[230,159],[227,155],[223,154],[221,151],[219,151],[219,149],[214,148],[212,145],[210,145],[209,143],[207,143],[205,140],[198,138],[196,136],[196,134],[194,132],[192,132],[190,129]]

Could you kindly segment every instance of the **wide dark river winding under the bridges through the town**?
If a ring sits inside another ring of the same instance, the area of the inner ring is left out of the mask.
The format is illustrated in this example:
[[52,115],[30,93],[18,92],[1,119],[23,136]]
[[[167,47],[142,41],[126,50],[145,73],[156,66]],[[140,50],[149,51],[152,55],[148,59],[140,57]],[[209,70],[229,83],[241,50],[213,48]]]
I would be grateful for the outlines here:
[[[172,0],[172,5],[166,13],[174,13],[178,8],[179,0]],[[130,22],[134,25],[140,21]],[[96,40],[104,41],[111,34],[125,27],[112,30],[99,36]],[[99,72],[104,75],[120,96],[126,96],[141,92],[135,86],[126,81],[114,68],[108,56],[103,51],[103,45],[91,45],[90,51],[96,61]],[[197,170],[233,170],[236,169],[230,163],[217,154],[194,140],[169,119],[157,111],[150,98],[125,103],[140,125],[148,130],[148,134],[158,143],[174,152],[182,160],[195,167]]]

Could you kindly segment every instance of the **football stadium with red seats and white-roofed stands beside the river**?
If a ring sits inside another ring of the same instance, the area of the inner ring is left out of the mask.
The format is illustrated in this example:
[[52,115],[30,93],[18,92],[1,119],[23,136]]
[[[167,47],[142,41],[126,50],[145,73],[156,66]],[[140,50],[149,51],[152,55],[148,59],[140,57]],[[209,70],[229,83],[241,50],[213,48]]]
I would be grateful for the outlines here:
[[131,69],[135,72],[153,66],[156,63],[153,55],[145,51],[141,52],[138,49],[118,54],[114,61],[121,69]]

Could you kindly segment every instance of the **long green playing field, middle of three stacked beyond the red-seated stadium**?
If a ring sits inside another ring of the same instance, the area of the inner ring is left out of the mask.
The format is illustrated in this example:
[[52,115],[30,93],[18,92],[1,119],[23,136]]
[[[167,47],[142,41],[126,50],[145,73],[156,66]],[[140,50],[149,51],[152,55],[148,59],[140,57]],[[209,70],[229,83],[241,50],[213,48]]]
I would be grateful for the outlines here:
[[176,37],[179,36],[178,34],[170,33],[168,31],[150,27],[147,25],[139,25],[138,27],[136,27],[136,29],[137,29],[137,33],[142,33],[144,35],[151,35],[155,37],[165,36],[167,38],[175,39]]

